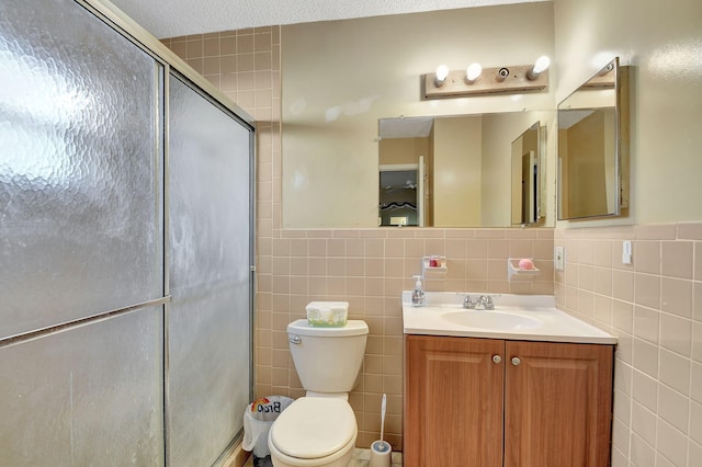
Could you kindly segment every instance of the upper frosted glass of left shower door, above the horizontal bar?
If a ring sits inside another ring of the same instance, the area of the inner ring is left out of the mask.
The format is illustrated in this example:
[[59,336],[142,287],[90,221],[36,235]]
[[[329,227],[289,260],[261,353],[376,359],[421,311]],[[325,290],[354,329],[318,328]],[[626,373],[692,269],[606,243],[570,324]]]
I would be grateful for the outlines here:
[[75,2],[0,2],[0,339],[162,297],[162,67]]

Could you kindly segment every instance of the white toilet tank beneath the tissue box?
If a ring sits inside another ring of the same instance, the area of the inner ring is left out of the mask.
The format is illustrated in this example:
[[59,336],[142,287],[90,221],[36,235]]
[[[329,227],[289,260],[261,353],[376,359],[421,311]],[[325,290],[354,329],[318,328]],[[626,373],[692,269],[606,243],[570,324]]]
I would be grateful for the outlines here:
[[369,327],[350,319],[342,328],[312,327],[306,319],[287,324],[290,351],[303,388],[349,392],[358,383]]

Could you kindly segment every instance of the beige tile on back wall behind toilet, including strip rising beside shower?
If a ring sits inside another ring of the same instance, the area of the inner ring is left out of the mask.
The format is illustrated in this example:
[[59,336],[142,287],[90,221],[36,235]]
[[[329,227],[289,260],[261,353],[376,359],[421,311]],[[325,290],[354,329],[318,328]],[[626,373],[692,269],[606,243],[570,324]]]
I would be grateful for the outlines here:
[[[350,303],[350,318],[370,326],[362,378],[350,401],[360,447],[380,435],[401,451],[403,323],[400,293],[414,285],[420,258],[448,257],[430,291],[553,294],[553,229],[282,230],[280,27],[165,39],[181,58],[254,116],[258,128],[256,391],[303,395],[285,327],[316,299]],[[534,258],[542,274],[507,282],[507,258]]]

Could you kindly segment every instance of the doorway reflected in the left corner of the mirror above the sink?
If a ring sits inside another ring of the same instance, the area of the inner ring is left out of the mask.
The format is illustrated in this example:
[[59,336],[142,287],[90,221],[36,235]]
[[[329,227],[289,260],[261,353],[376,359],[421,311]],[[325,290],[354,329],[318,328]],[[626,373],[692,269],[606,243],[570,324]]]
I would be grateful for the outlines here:
[[423,157],[380,169],[378,226],[423,226]]

